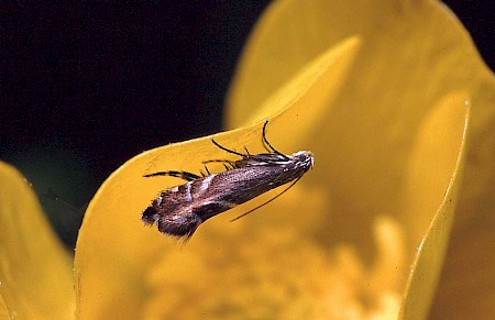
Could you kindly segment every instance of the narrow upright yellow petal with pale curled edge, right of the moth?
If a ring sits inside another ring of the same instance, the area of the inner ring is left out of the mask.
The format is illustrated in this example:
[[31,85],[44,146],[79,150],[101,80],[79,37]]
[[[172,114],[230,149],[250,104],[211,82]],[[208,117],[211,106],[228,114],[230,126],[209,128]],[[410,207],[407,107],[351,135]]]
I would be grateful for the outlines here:
[[[407,206],[404,214],[409,225],[411,245],[426,233],[413,264],[400,319],[425,319],[439,282],[464,176],[465,153],[459,143],[462,137],[465,144],[463,135],[468,130],[460,125],[464,119],[468,124],[463,101],[468,100],[462,93],[449,95],[439,101],[425,117],[413,147],[406,176]],[[458,158],[455,154],[459,154]],[[446,180],[444,177],[450,175],[450,181]],[[444,196],[439,194],[442,190],[447,190]],[[429,214],[424,214],[436,210],[435,200],[442,196],[443,201],[435,217],[431,219]]]

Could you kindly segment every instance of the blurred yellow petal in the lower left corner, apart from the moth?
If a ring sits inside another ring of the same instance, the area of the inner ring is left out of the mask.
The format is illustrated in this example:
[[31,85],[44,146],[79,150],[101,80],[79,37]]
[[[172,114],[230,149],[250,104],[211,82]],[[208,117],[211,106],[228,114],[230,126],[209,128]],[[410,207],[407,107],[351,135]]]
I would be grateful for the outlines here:
[[0,162],[0,317],[3,312],[12,319],[73,318],[69,254],[25,178]]

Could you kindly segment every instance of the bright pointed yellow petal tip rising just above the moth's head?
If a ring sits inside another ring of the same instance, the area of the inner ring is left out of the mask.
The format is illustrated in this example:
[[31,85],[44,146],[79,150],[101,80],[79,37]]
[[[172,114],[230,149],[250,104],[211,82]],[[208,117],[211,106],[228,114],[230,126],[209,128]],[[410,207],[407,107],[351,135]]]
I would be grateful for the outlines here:
[[[263,103],[251,107],[249,117],[244,117],[238,126],[284,113],[287,121],[285,130],[304,134],[298,135],[297,140],[306,141],[308,135],[305,133],[311,132],[331,111],[329,106],[345,84],[360,45],[361,40],[354,36],[329,47],[327,52],[308,62],[297,76],[287,79],[284,86],[272,92]],[[289,140],[286,142],[288,145]],[[285,146],[285,143],[283,144]]]

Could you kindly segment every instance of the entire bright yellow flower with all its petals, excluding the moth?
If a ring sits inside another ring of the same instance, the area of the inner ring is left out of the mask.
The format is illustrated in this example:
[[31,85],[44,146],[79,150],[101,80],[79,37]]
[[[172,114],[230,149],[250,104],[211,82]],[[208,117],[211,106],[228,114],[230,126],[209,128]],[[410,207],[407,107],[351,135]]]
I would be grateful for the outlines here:
[[[46,319],[435,319],[495,313],[495,79],[432,1],[274,2],[249,42],[216,140],[310,150],[315,168],[208,220],[187,245],[140,213],[228,155],[211,136],[114,172],[69,257],[29,186],[0,166],[0,316]],[[255,203],[254,203],[255,202]]]

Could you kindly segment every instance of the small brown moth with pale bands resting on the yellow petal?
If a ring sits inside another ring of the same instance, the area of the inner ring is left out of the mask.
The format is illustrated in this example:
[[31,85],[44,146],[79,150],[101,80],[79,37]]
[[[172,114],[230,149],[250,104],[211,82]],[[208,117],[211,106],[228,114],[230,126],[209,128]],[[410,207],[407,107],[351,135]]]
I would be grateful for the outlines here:
[[211,140],[219,148],[241,157],[238,161],[204,162],[204,164],[223,163],[224,172],[210,174],[205,165],[207,174],[201,173],[201,176],[177,170],[145,175],[144,177],[173,176],[188,183],[160,192],[158,197],[143,211],[143,222],[147,225],[156,223],[160,232],[188,240],[199,224],[211,217],[293,181],[274,198],[233,220],[275,200],[287,191],[312,167],[315,158],[309,151],[299,151],[292,155],[278,152],[266,139],[267,123],[268,121],[263,126],[262,141],[268,153],[252,155],[246,148],[244,148],[245,153],[239,153]]

